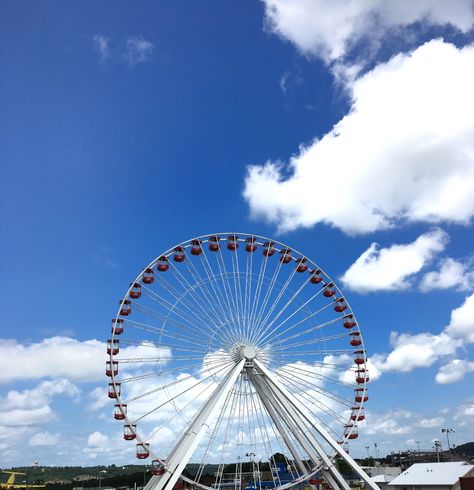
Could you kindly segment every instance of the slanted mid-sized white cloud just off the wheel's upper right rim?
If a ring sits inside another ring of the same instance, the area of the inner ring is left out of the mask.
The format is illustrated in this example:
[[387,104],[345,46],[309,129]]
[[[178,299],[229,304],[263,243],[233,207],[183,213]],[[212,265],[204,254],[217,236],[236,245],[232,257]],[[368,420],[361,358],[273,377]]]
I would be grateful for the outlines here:
[[341,279],[347,287],[360,292],[404,289],[410,285],[410,276],[442,251],[447,241],[446,233],[434,230],[406,245],[379,248],[372,243]]

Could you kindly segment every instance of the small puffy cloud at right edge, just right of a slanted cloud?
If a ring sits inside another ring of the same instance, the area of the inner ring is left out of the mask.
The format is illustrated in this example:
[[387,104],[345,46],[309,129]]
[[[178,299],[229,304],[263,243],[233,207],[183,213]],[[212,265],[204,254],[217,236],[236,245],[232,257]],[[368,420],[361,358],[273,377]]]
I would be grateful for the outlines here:
[[474,284],[474,272],[467,270],[465,264],[451,257],[441,261],[437,271],[430,271],[423,276],[420,283],[422,291],[433,289],[456,288],[460,291],[471,289]]

